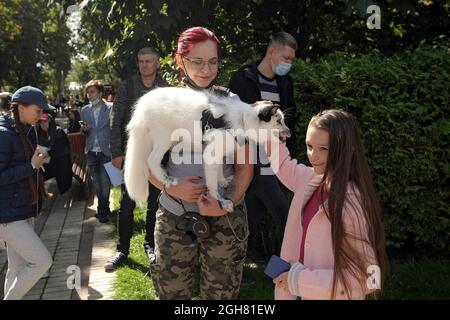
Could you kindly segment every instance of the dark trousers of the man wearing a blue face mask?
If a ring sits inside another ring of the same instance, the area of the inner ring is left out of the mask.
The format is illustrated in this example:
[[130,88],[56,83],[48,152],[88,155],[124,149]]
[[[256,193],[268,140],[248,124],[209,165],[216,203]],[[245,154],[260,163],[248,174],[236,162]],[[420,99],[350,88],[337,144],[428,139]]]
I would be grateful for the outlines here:
[[266,214],[275,221],[277,238],[283,239],[284,227],[289,212],[289,203],[275,175],[261,175],[260,164],[255,165],[253,181],[245,196],[250,235]]

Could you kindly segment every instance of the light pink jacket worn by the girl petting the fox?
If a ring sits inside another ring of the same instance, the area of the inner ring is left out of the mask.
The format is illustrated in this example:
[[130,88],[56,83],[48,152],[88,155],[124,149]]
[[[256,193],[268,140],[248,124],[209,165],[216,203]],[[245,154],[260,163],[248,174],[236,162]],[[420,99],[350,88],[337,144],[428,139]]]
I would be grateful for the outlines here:
[[[274,145],[274,147],[276,147]],[[334,257],[331,240],[331,223],[321,207],[311,220],[308,233],[305,238],[304,265],[300,264],[300,242],[302,239],[301,212],[314,190],[319,186],[322,176],[317,175],[313,168],[291,159],[285,144],[280,144],[279,161],[271,160],[272,169],[278,179],[291,191],[294,198],[289,209],[289,215],[284,231],[283,244],[280,257],[288,262],[296,261],[291,266],[288,274],[289,291],[275,287],[276,300],[292,300],[297,296],[302,299],[330,299],[333,285]],[[277,166],[279,163],[279,166]],[[347,198],[352,204],[357,204],[357,194],[352,188],[347,189]],[[347,234],[366,239],[365,225],[358,223],[357,217],[362,219],[362,210],[359,205],[356,209],[346,201],[344,204],[343,220]],[[326,205],[326,203],[325,203]],[[356,248],[360,255],[366,257],[367,266],[376,265],[373,249],[364,241],[348,237],[349,243]],[[352,299],[364,299],[370,292],[367,285],[361,288],[360,282],[354,277],[348,276]],[[365,280],[364,280],[365,284]],[[338,283],[336,299],[347,299],[343,287]]]

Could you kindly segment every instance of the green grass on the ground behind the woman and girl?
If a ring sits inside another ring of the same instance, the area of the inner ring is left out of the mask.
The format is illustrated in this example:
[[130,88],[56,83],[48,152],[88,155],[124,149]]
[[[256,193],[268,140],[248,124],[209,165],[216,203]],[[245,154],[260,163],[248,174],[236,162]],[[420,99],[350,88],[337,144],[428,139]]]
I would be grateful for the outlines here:
[[[113,208],[119,208],[120,190],[113,190]],[[115,218],[111,223],[116,224]],[[154,300],[156,298],[144,251],[145,207],[135,210],[134,236],[128,262],[116,273],[115,296],[118,300]],[[115,236],[117,238],[117,235]],[[273,299],[272,281],[264,274],[261,262],[248,261],[244,265],[246,279],[241,286],[239,299]],[[198,278],[194,299],[199,299]],[[412,258],[391,262],[386,279],[383,300],[450,299],[450,259]]]

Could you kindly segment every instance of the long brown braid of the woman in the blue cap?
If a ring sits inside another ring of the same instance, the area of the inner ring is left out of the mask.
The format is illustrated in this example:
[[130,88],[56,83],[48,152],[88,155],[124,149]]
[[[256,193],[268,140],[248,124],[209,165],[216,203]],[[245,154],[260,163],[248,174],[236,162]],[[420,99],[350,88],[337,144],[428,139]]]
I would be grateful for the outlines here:
[[[25,105],[25,107],[27,107],[27,106]],[[22,144],[22,149],[23,149],[23,152],[25,155],[25,159],[27,161],[31,161],[34,151],[28,142],[28,138],[27,138],[27,135],[25,134],[24,126],[23,126],[22,122],[20,122],[19,105],[18,104],[12,105],[12,112],[14,115],[14,127],[15,127],[17,134],[19,135],[20,142]],[[37,141],[36,141],[36,143],[37,143]],[[37,203],[39,201],[39,197],[46,196],[46,192],[44,190],[44,179],[40,173],[38,174],[38,181],[39,181],[38,182],[39,183],[39,194],[38,194],[38,188],[36,185],[36,181],[33,179],[33,176],[28,177],[28,185],[29,185],[29,188],[31,191],[32,204]]]

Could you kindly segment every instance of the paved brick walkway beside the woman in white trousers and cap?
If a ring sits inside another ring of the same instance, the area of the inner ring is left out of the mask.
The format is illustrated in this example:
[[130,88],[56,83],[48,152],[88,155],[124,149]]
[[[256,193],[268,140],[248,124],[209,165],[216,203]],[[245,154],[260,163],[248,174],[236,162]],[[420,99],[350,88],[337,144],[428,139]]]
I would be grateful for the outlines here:
[[[97,221],[95,199],[83,199],[75,180],[72,190],[62,196],[56,195],[54,183],[47,189],[55,196],[45,201],[35,229],[52,254],[53,265],[24,299],[112,299],[115,274],[105,273],[103,265],[114,252],[114,226]],[[0,248],[0,297],[6,270],[6,250]]]

